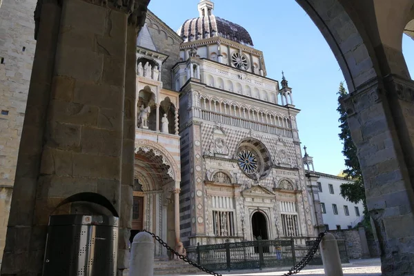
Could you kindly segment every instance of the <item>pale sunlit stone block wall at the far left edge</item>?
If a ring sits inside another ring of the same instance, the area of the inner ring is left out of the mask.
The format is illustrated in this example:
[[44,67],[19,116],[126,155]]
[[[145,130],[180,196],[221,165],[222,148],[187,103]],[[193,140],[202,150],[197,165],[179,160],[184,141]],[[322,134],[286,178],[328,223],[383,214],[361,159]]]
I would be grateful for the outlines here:
[[17,153],[36,48],[33,20],[36,2],[0,1],[0,259],[3,257]]

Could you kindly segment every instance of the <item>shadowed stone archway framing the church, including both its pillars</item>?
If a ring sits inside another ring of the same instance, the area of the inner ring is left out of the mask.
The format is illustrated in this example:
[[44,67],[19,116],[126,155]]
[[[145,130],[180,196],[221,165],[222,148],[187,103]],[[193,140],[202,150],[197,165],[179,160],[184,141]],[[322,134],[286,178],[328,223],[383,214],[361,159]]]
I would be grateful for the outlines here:
[[[47,224],[44,210],[55,206],[56,198],[63,197],[66,191],[56,188],[55,195],[48,195],[48,190],[52,190],[50,187],[62,183],[58,181],[61,177],[59,171],[49,166],[68,160],[81,164],[74,166],[75,170],[72,172],[64,174],[68,183],[77,181],[79,184],[79,178],[86,177],[88,184],[90,179],[98,183],[100,180],[115,179],[114,187],[123,186],[118,164],[129,163],[123,162],[124,156],[119,152],[132,152],[133,144],[128,146],[125,143],[123,148],[121,144],[125,137],[114,126],[123,125],[122,116],[119,114],[128,111],[124,110],[119,95],[124,95],[125,91],[126,98],[135,99],[135,42],[137,31],[144,23],[148,0],[130,1],[135,6],[117,6],[115,1],[108,1],[107,6],[101,6],[101,1],[92,2],[43,1],[43,6],[39,5],[35,13],[36,37],[39,41],[32,76],[39,77],[32,77],[30,81],[27,119],[21,137],[8,224],[8,251],[3,257],[2,274],[26,275],[28,270],[30,273],[41,271],[39,256],[43,252]],[[413,1],[401,0],[398,4],[395,1],[354,0],[297,2],[308,12],[328,41],[351,92],[344,99],[344,105],[348,110],[349,126],[364,173],[368,208],[380,238],[383,273],[413,274],[414,249],[406,246],[404,241],[411,241],[414,233],[414,146],[411,138],[414,137],[411,126],[414,119],[414,85],[404,75],[404,58],[394,45],[396,40],[387,40],[387,33],[384,31],[397,32],[400,35],[400,27],[394,23],[398,22],[397,19],[406,19],[405,15],[412,10],[410,5],[412,6]],[[393,7],[387,7],[390,3]],[[131,13],[132,7],[134,9]],[[387,9],[389,12],[386,12]],[[40,18],[41,10],[49,16]],[[391,12],[394,14],[392,17]],[[108,14],[119,19],[112,20],[109,30]],[[395,21],[390,26],[386,25],[388,18]],[[90,20],[94,24],[90,24]],[[103,48],[98,39],[95,41],[97,44],[92,47],[90,39],[77,39],[78,34],[85,33],[85,28],[88,28],[91,37],[102,37],[104,34],[105,43],[119,47]],[[66,31],[61,32],[63,29]],[[112,36],[111,30],[117,30],[117,35]],[[58,36],[59,41],[64,40],[67,43],[57,43]],[[122,45],[121,41],[127,41],[128,46]],[[102,55],[105,56],[105,62],[102,62]],[[127,56],[132,57],[133,65],[128,62]],[[50,62],[45,62],[46,60]],[[69,87],[74,89],[68,90]],[[108,87],[117,88],[119,92],[114,93]],[[75,102],[77,97],[72,97],[71,93],[80,92],[81,95],[86,95],[83,94],[84,90],[99,97],[81,98],[82,103]],[[61,92],[68,92],[69,97]],[[97,126],[96,118],[108,117],[108,114],[115,117],[115,121],[106,124],[100,121],[99,128],[90,128],[91,125]],[[45,127],[46,121],[48,128]],[[77,135],[57,135],[67,130],[68,124],[70,131]],[[90,147],[83,147],[92,148],[92,152],[79,152],[81,141],[82,144],[88,144],[88,139],[106,137],[103,133],[114,128],[117,136],[112,143],[106,141],[105,147],[102,147],[103,143],[95,141],[90,143]],[[116,153],[115,157],[110,149]],[[96,155],[93,150],[106,154]],[[174,168],[173,170],[175,171]],[[122,177],[124,182],[124,175]],[[42,186],[46,183],[45,179],[58,180]],[[68,185],[66,188],[70,187],[73,193],[77,193],[86,190],[88,184]],[[45,193],[41,198],[37,197],[37,190],[43,188]],[[121,201],[121,197],[117,197],[118,202]],[[121,213],[121,225],[126,225],[124,219],[128,220],[128,208],[126,209],[124,214]],[[28,247],[27,244],[19,243],[16,237],[23,235],[38,246]],[[124,252],[124,245],[119,250],[120,256],[128,255]],[[33,268],[21,266],[29,263],[30,258],[39,261],[34,263]],[[17,259],[19,262],[15,262]],[[411,266],[405,262],[411,262]],[[119,264],[119,269],[123,270],[124,262]]]

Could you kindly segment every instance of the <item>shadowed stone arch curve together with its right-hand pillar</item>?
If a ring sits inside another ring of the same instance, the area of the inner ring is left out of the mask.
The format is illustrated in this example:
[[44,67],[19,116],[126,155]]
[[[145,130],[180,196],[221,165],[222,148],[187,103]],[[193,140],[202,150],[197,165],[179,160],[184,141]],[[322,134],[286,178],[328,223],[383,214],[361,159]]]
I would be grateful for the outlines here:
[[414,82],[401,45],[414,1],[296,1],[322,32],[348,84],[342,105],[358,150],[382,273],[412,274],[414,261],[404,266],[403,260],[414,259],[414,248],[402,241],[414,233]]

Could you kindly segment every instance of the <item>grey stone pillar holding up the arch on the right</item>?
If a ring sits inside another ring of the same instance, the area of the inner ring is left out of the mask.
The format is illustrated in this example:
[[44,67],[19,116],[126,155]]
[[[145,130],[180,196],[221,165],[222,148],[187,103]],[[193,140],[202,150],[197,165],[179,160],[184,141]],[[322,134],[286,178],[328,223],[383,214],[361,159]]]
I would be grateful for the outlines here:
[[357,146],[382,275],[414,273],[414,83],[388,75],[342,99]]

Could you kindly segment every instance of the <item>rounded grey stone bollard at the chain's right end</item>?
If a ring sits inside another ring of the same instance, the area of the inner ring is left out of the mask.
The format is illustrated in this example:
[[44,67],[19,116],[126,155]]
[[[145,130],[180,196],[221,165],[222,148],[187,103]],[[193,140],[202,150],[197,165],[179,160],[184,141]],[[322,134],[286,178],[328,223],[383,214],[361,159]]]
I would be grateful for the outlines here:
[[326,276],[343,276],[341,257],[335,236],[326,233],[319,246]]

